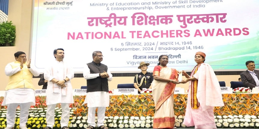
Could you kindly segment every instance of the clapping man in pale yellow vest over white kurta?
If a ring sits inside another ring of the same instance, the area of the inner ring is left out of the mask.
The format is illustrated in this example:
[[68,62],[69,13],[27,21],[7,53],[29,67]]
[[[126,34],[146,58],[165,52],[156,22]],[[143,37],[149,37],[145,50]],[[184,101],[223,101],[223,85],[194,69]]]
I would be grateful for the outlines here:
[[20,106],[20,129],[27,129],[30,106],[35,105],[35,88],[32,77],[39,76],[33,67],[31,60],[27,61],[24,52],[14,53],[14,62],[8,63],[5,67],[5,74],[9,76],[9,83],[6,86],[5,98],[1,106],[7,106],[5,129],[11,129],[15,124],[16,108]]

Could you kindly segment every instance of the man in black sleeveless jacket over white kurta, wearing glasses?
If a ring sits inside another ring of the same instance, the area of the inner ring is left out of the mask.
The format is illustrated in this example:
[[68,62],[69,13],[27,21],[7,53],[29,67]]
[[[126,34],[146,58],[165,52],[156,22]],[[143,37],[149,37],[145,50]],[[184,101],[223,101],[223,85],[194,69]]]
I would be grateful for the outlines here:
[[[112,74],[105,64],[101,64],[103,55],[101,51],[92,53],[93,61],[86,64],[83,76],[87,82],[87,95],[83,104],[87,103],[88,117],[87,129],[94,129],[97,125],[98,129],[108,129],[104,126],[105,109],[109,106],[109,88],[108,81],[112,80]],[[95,110],[97,110],[97,124],[95,124]]]

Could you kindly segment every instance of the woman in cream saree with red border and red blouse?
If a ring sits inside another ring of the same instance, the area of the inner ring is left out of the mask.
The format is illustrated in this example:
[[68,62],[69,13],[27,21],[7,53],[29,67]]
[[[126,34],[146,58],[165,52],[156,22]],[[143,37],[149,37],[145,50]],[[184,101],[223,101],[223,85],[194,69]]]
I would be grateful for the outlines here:
[[174,128],[175,117],[173,111],[173,93],[177,81],[178,71],[167,67],[168,56],[160,55],[158,65],[154,67],[152,94],[155,104],[153,128]]

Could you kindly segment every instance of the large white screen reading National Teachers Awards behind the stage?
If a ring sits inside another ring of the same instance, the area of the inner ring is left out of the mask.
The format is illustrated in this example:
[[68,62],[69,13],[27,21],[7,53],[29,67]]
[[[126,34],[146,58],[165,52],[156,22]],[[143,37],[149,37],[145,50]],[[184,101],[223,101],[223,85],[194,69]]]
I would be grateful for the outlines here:
[[191,71],[202,51],[214,71],[242,71],[248,60],[258,64],[258,7],[258,0],[35,0],[30,57],[43,72],[63,48],[83,73],[101,51],[112,73],[136,73],[141,61],[152,71],[160,55],[168,67]]

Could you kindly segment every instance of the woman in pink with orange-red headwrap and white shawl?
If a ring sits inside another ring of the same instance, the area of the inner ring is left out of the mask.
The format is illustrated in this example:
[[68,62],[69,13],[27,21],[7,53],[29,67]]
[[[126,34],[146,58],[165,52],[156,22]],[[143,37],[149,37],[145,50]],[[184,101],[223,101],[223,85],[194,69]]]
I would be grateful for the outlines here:
[[219,81],[207,63],[204,63],[206,54],[195,53],[197,65],[193,68],[191,76],[185,71],[183,74],[189,82],[188,100],[183,124],[195,129],[216,129],[214,120],[214,107],[224,106]]

